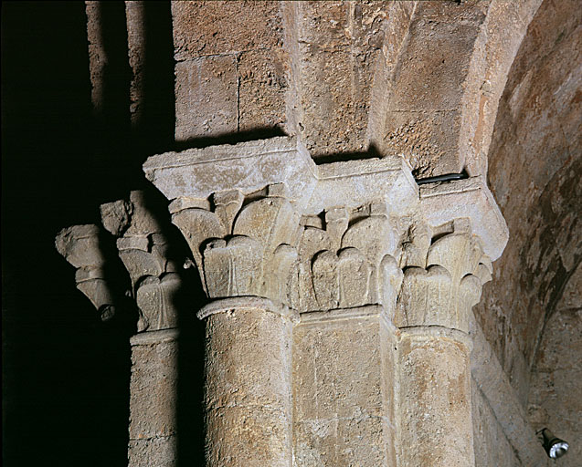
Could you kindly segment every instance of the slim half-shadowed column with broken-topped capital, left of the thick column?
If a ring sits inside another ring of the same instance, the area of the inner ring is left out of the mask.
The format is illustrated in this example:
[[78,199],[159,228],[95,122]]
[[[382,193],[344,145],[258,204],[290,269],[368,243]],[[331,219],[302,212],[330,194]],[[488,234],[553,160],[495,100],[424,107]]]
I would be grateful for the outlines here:
[[129,467],[177,462],[178,310],[183,281],[169,254],[167,226],[144,192],[101,205],[131,279],[127,294],[138,308],[130,381]]

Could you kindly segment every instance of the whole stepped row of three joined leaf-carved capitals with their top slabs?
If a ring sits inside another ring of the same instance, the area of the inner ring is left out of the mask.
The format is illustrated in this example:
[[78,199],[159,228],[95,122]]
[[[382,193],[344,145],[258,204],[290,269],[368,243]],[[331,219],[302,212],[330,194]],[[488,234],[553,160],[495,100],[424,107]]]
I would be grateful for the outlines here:
[[[316,165],[279,137],[168,152],[143,170],[172,201],[215,299],[264,297],[302,313],[382,305],[393,315],[404,275],[405,295],[445,300],[449,281],[449,296],[470,308],[507,241],[481,178],[419,188],[398,156]],[[436,324],[430,313],[397,319]],[[465,329],[454,315],[441,325]]]

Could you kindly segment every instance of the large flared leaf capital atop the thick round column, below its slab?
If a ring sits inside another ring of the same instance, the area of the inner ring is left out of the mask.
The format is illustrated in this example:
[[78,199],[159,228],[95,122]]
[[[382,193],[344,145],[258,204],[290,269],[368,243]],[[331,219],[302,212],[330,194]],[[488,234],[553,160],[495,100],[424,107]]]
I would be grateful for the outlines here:
[[208,201],[182,198],[170,211],[209,297],[262,296],[290,305],[300,215],[282,184],[246,198],[238,190]]

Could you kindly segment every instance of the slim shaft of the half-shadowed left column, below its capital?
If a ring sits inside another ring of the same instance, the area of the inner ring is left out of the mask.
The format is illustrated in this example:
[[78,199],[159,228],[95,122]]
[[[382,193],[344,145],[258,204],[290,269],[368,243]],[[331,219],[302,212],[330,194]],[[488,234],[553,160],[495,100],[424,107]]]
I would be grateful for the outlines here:
[[133,336],[129,467],[176,464],[176,329]]

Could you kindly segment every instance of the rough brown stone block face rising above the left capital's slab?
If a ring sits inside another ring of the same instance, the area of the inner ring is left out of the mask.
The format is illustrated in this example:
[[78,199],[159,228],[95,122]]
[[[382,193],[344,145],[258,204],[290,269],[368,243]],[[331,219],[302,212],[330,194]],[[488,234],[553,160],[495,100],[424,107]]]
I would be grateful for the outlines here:
[[175,2],[172,16],[176,140],[284,125],[279,2]]

